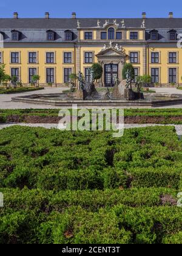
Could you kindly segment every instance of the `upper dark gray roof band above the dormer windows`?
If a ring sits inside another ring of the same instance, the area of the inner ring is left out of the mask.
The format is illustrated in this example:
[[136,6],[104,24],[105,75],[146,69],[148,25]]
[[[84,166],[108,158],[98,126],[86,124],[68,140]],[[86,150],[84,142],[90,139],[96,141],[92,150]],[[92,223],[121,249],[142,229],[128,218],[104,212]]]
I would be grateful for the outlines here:
[[[0,18],[0,29],[76,29],[77,21],[81,27],[96,27],[97,21],[101,26],[106,20],[111,23],[115,18]],[[116,19],[121,26],[121,19]],[[124,18],[126,27],[141,27],[142,18]],[[182,29],[182,18],[146,18],[146,29]]]

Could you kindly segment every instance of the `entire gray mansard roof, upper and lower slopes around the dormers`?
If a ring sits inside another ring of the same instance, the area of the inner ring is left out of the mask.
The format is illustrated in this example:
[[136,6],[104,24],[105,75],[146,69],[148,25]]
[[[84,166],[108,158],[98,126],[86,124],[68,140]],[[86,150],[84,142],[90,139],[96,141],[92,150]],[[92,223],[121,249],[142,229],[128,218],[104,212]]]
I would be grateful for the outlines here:
[[[124,20],[126,28],[140,28],[143,18],[0,18],[0,33],[4,37],[4,43],[12,43],[12,30],[18,30],[19,43],[41,43],[46,42],[46,31],[53,30],[55,32],[55,40],[52,43],[63,43],[65,41],[65,30],[72,31],[72,41],[74,43],[78,38],[78,20],[81,28],[97,27],[97,21],[101,21],[101,28],[109,20],[113,20],[121,27],[121,21]],[[182,18],[146,18],[146,40],[150,40],[150,31],[158,30],[158,42],[169,41],[169,30],[177,30],[177,34],[182,33]],[[50,41],[49,41],[50,43]]]

